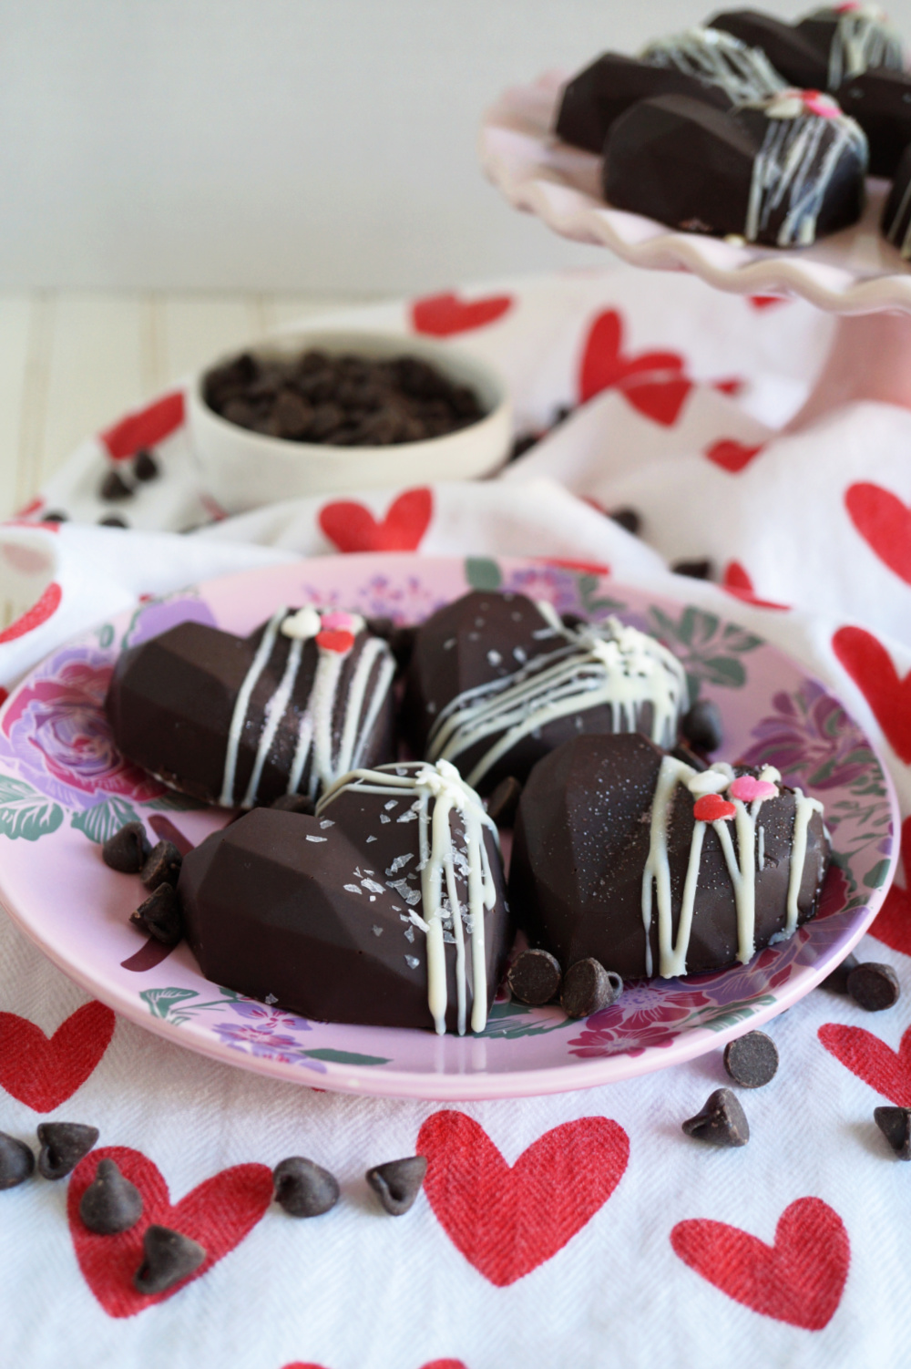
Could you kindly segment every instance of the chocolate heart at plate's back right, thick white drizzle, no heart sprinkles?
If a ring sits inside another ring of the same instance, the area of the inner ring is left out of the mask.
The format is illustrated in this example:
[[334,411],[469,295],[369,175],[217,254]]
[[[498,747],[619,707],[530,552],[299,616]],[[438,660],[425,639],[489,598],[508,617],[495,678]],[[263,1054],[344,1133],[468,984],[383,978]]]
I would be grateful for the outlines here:
[[417,630],[402,717],[417,752],[490,794],[579,732],[639,728],[673,745],[685,708],[683,667],[646,632],[475,590]]

